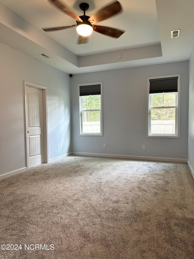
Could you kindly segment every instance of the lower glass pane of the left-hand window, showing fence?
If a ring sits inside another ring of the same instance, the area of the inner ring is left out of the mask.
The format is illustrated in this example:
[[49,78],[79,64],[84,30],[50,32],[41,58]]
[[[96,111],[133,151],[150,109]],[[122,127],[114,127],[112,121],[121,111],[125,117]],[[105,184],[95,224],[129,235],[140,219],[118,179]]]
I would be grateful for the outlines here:
[[83,111],[83,133],[100,133],[100,111]]

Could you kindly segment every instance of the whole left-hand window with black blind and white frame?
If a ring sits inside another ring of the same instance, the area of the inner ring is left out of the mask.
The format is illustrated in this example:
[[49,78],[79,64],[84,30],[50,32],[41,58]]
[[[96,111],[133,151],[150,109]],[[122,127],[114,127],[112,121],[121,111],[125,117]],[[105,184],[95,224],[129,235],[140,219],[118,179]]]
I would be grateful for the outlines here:
[[79,135],[102,136],[102,82],[79,84]]

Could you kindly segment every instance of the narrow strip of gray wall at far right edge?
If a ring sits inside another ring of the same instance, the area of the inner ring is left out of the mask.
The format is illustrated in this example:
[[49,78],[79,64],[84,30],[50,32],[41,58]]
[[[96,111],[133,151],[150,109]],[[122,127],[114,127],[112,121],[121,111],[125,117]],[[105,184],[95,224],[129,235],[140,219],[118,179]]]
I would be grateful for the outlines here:
[[189,60],[189,138],[188,161],[194,177],[194,48]]

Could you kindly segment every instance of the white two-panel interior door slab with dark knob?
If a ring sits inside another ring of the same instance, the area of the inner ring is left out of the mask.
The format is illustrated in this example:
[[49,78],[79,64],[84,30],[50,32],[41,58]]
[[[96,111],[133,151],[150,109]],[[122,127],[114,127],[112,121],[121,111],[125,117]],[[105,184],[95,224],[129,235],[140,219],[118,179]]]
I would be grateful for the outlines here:
[[44,163],[42,90],[26,86],[28,168]]

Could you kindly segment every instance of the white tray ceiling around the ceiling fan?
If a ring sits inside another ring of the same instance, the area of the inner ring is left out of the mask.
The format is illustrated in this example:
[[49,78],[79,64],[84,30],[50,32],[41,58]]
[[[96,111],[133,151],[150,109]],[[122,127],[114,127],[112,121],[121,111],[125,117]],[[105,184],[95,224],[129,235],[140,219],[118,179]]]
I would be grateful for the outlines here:
[[[109,0],[60,0],[76,14],[82,2],[91,16]],[[0,0],[0,42],[66,73],[142,66],[189,60],[194,46],[193,0],[120,0],[123,12],[98,25],[125,30],[118,39],[92,32],[89,43],[77,45],[75,28],[44,32],[76,21],[48,0]],[[180,37],[171,39],[171,30]],[[45,53],[50,58],[40,56]],[[118,55],[122,54],[119,59]]]

